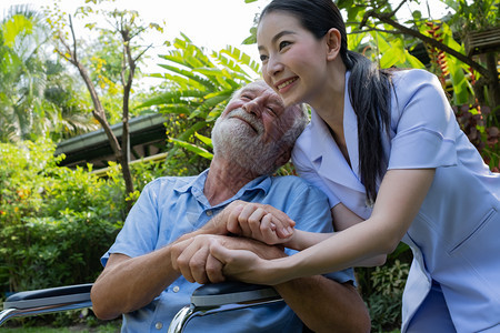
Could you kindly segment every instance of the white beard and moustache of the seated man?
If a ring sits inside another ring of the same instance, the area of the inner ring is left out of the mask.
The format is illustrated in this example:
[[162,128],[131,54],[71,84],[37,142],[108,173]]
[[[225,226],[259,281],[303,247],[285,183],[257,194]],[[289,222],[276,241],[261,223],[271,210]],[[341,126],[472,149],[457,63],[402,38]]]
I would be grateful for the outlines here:
[[[250,122],[258,133],[238,115]],[[226,118],[218,118],[212,129],[213,153],[230,160],[241,168],[259,175],[276,171],[280,151],[278,142],[262,142],[263,125],[242,109],[231,111]]]

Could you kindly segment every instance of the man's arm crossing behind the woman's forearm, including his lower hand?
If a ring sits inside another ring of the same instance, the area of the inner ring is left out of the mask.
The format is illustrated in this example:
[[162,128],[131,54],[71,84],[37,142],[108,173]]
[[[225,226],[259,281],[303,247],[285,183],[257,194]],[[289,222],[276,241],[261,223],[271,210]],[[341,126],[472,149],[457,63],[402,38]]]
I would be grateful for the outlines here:
[[[191,282],[221,282],[222,265],[210,255],[211,243],[231,250],[249,250],[262,259],[284,258],[281,246],[232,236],[201,235],[178,243],[172,263]],[[211,259],[211,260],[210,260]],[[219,270],[219,271],[218,271]],[[210,279],[217,276],[217,280]],[[358,291],[322,275],[301,278],[274,285],[287,304],[314,332],[369,332],[370,316]]]

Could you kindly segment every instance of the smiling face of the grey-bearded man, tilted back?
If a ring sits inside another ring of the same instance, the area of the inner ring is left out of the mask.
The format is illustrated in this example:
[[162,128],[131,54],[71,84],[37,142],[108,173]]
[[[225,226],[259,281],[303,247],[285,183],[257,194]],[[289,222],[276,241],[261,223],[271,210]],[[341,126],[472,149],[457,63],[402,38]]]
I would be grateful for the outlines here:
[[272,173],[283,150],[279,140],[293,120],[293,110],[284,110],[280,97],[264,82],[250,83],[217,120],[212,130],[214,153],[258,174]]

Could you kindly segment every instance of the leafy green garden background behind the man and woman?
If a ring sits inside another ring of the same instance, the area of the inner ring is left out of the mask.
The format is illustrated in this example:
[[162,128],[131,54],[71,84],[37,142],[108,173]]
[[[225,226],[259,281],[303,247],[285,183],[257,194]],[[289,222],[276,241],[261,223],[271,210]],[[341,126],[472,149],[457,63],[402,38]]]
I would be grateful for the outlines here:
[[[114,10],[113,1],[81,2],[71,13],[54,1],[41,10],[11,7],[0,17],[0,301],[12,292],[93,282],[99,258],[141,189],[161,175],[204,170],[214,120],[234,90],[259,77],[260,64],[239,47],[210,50],[186,34],[166,40],[163,56],[148,57],[148,33],[163,33],[166,23]],[[443,0],[449,13],[439,19],[416,10],[417,2],[336,1],[349,49],[381,68],[437,74],[461,128],[499,172],[499,1]],[[411,18],[398,19],[402,8]],[[77,22],[88,32],[74,29]],[[256,22],[242,42],[253,44],[254,32]],[[144,84],[151,62],[161,69],[150,74],[154,85]],[[151,114],[163,117],[167,139],[147,157],[131,144],[130,121]],[[99,129],[110,149],[108,168],[64,167],[57,148]],[[293,173],[293,167],[279,173]],[[373,332],[398,330],[410,262],[401,244],[386,265],[357,269]],[[83,311],[9,326],[40,324],[103,325]]]

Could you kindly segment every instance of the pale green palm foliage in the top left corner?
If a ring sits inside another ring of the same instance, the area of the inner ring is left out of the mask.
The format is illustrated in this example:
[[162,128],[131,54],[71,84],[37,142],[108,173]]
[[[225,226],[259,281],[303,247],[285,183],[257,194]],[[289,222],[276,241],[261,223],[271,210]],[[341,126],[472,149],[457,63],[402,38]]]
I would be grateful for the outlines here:
[[81,112],[79,85],[44,44],[41,14],[11,7],[0,21],[0,141],[59,140],[92,129]]

